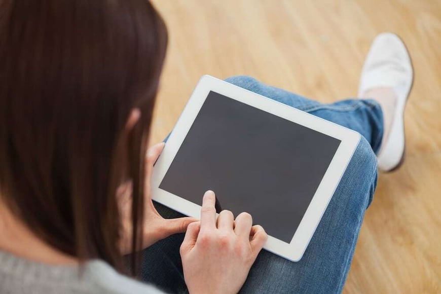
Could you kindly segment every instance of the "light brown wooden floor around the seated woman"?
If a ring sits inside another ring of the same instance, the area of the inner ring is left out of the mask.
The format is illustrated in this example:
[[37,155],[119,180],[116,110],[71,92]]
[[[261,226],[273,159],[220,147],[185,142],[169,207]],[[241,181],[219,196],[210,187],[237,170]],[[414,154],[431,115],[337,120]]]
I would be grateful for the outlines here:
[[202,75],[253,76],[322,102],[357,93],[375,36],[396,32],[415,69],[407,158],[381,174],[345,293],[441,292],[441,1],[155,0],[169,50],[153,141]]

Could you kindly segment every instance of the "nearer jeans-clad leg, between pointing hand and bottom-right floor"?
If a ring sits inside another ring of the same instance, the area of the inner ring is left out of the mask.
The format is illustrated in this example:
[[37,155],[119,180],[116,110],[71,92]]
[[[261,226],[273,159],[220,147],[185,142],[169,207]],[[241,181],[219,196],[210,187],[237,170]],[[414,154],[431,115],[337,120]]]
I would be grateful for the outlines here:
[[303,258],[293,263],[262,250],[241,292],[341,292],[376,183],[376,157],[363,138]]

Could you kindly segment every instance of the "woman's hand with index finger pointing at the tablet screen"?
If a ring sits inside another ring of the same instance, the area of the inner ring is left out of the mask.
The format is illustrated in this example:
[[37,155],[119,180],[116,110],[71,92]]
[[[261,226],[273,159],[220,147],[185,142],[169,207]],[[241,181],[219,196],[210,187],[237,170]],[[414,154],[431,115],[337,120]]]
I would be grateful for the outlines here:
[[237,293],[268,235],[252,226],[251,215],[223,210],[216,220],[215,196],[207,191],[201,220],[187,228],[180,246],[182,267],[191,294]]

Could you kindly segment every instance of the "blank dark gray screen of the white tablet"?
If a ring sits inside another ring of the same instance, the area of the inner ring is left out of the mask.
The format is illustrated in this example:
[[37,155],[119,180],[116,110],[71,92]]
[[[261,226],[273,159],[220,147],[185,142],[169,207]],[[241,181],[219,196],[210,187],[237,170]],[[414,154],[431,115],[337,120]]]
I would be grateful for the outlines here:
[[340,140],[210,92],[159,188],[222,209],[289,243]]

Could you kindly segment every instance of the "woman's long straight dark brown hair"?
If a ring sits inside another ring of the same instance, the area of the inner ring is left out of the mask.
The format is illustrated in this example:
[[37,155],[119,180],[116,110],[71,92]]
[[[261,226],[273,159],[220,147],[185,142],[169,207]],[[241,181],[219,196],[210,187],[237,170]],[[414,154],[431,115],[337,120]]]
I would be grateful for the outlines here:
[[[140,249],[166,46],[147,0],[0,0],[0,195],[35,234],[81,261],[123,269],[116,190],[128,179]],[[133,108],[141,117],[127,131]]]

